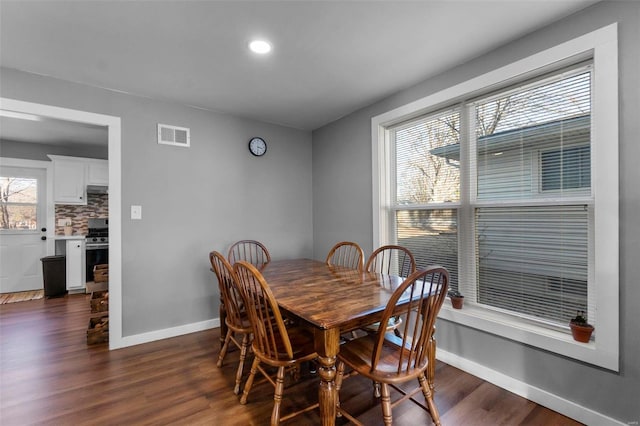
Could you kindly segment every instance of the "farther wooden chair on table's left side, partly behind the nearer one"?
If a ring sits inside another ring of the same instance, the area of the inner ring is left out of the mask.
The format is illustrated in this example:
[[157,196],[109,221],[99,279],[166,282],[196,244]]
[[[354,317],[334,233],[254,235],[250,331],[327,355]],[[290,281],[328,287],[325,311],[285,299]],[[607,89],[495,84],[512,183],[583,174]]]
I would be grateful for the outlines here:
[[[236,384],[233,393],[240,393],[240,382],[242,380],[242,370],[244,360],[247,357],[247,349],[251,342],[251,333],[253,329],[249,316],[244,310],[244,301],[238,287],[233,267],[227,262],[224,256],[212,251],[209,253],[209,261],[211,268],[218,278],[218,286],[220,287],[220,298],[225,306],[224,322],[227,326],[226,335],[220,355],[218,355],[218,367],[222,367],[224,357],[229,349],[229,342],[233,342],[240,349],[240,360],[238,362],[238,370],[236,371]],[[242,334],[242,341],[238,342],[236,334]]]

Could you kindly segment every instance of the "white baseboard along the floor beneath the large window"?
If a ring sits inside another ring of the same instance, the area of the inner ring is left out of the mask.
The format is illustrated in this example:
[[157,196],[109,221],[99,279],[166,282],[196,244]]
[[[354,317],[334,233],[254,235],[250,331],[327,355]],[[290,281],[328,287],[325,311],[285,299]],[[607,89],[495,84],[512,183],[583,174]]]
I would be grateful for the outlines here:
[[537,404],[547,407],[553,411],[577,420],[587,425],[599,426],[621,426],[625,423],[607,417],[604,414],[593,411],[587,407],[576,404],[575,402],[561,398],[545,390],[531,386],[528,383],[509,377],[496,370],[480,365],[474,361],[462,358],[451,352],[447,352],[438,348],[436,350],[436,358],[446,364],[459,368],[469,374],[481,378],[489,383],[508,390],[523,398],[527,398]]

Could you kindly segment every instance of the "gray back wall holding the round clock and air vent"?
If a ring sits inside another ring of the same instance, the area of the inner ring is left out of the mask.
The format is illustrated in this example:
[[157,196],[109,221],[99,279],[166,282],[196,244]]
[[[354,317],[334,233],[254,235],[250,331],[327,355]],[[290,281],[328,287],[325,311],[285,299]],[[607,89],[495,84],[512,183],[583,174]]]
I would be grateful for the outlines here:
[[[2,69],[3,97],[122,119],[122,335],[218,317],[208,253],[239,239],[272,257],[312,255],[311,134]],[[156,143],[157,123],[191,147]],[[253,157],[252,136],[268,151]],[[140,221],[129,219],[142,205]]]

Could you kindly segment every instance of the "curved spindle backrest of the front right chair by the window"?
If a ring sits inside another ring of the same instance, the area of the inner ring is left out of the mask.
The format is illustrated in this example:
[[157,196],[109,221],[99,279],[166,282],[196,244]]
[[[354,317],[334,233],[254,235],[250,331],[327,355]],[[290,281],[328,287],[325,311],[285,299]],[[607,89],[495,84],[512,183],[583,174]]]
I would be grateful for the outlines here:
[[[385,336],[385,328],[378,329],[371,357],[372,371],[380,362],[385,338],[404,348],[400,352],[395,374],[408,375],[428,366],[429,342],[433,338],[436,317],[447,296],[448,287],[449,272],[443,267],[432,266],[414,272],[393,292],[380,322],[386,324],[391,317],[402,315],[405,318],[404,329],[401,330],[401,337]],[[396,310],[398,301],[405,298],[411,301],[400,311]],[[390,371],[387,373],[393,374]]]

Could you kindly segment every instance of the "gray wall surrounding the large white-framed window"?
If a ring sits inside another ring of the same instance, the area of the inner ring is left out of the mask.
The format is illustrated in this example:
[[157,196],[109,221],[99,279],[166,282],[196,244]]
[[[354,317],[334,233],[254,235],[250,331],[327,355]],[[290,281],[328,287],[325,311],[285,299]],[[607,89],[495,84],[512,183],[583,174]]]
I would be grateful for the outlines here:
[[[620,372],[440,321],[438,346],[623,423],[640,421],[640,3],[607,1],[313,132],[314,255],[350,239],[372,249],[371,118],[523,57],[619,23]],[[381,52],[383,54],[384,52]],[[433,60],[434,58],[427,58]],[[597,90],[597,88],[596,88]],[[634,423],[631,423],[634,422]]]

